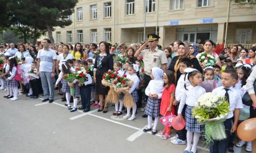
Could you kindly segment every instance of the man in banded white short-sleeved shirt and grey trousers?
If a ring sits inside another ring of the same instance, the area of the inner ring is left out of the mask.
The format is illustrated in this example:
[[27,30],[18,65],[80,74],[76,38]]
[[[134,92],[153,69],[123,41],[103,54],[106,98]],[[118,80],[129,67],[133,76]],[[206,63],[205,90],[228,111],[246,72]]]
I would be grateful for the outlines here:
[[37,75],[41,77],[42,90],[44,90],[45,99],[42,102],[49,100],[53,102],[54,98],[54,77],[57,55],[50,48],[50,39],[42,40],[43,49],[39,50],[37,54]]

